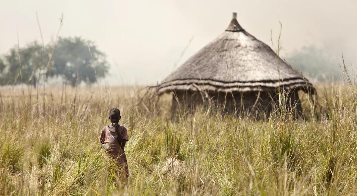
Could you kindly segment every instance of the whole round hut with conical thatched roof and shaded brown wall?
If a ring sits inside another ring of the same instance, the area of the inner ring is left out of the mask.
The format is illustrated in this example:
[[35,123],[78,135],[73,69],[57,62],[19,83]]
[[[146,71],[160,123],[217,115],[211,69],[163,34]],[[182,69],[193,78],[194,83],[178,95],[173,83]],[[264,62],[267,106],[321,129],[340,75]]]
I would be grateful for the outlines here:
[[221,105],[227,112],[270,114],[287,97],[287,108],[301,114],[298,91],[315,92],[312,84],[265,43],[245,31],[236,13],[225,32],[190,57],[156,88],[174,94],[172,111],[185,105]]

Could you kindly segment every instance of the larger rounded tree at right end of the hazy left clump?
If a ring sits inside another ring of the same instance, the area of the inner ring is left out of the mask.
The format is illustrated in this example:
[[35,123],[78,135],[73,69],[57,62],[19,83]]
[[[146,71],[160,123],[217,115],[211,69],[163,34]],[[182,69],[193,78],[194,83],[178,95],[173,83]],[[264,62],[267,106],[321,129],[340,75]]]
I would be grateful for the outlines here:
[[94,83],[97,78],[104,77],[109,67],[106,56],[93,42],[89,41],[88,45],[80,37],[60,37],[52,57],[54,74],[62,76],[72,86],[81,81]]

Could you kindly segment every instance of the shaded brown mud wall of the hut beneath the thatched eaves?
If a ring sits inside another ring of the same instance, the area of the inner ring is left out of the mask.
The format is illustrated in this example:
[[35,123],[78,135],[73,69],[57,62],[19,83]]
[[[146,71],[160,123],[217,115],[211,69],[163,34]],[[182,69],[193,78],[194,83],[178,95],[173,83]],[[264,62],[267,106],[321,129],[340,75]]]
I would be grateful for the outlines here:
[[[288,113],[301,115],[301,102],[298,91],[285,94],[286,110]],[[251,115],[255,118],[269,117],[278,108],[279,96],[268,92],[233,92],[233,93],[200,93],[198,91],[177,91],[172,97],[171,112],[183,110],[194,113],[197,105],[211,104],[217,111]]]

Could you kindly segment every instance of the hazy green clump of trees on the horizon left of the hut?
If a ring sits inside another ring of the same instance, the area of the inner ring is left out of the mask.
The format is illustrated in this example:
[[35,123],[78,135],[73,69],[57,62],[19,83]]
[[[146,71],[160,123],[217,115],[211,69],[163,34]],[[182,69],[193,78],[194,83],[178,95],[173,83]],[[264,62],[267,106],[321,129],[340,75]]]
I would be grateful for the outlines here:
[[[52,55],[53,54],[53,55]],[[72,86],[94,83],[108,72],[106,55],[91,41],[59,37],[57,44],[37,41],[15,46],[0,58],[0,85],[37,86],[50,77],[61,77]]]

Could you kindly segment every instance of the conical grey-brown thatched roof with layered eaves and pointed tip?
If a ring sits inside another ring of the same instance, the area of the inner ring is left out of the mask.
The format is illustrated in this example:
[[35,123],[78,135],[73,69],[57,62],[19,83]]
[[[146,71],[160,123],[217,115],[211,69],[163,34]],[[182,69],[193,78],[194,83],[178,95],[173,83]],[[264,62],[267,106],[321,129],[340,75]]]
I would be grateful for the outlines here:
[[268,45],[246,32],[233,13],[226,31],[167,76],[156,92],[274,92],[279,86],[314,91]]

